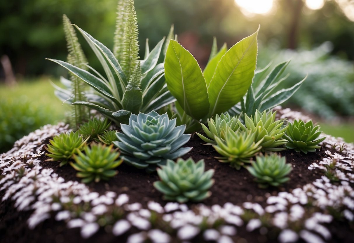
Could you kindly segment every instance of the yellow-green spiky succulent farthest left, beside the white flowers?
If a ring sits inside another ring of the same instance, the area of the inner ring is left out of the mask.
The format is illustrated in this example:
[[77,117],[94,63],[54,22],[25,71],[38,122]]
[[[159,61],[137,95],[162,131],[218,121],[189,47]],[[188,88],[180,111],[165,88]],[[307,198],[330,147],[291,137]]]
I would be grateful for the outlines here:
[[84,140],[78,131],[54,136],[52,140],[49,140],[50,144],[47,145],[49,153],[46,153],[46,156],[52,159],[46,161],[61,161],[59,166],[63,166],[72,159],[75,153],[83,149],[86,141],[87,139]]

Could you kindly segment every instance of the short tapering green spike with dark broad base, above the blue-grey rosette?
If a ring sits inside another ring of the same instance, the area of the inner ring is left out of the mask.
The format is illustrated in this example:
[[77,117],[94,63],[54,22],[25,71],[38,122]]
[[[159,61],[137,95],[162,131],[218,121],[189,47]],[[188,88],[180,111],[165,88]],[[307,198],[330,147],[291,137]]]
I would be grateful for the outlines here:
[[140,62],[138,62],[138,66],[130,76],[129,83],[122,98],[122,105],[124,109],[131,111],[134,114],[139,113],[142,103],[143,92],[140,89],[140,79],[141,66]]

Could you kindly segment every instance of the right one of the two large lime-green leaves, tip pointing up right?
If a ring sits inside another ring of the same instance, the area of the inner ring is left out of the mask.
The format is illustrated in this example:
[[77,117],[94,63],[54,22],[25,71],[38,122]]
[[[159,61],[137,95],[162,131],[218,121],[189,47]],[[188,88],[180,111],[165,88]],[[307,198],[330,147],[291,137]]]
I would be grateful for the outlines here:
[[258,30],[236,43],[219,61],[208,87],[210,116],[233,107],[249,89],[256,69]]

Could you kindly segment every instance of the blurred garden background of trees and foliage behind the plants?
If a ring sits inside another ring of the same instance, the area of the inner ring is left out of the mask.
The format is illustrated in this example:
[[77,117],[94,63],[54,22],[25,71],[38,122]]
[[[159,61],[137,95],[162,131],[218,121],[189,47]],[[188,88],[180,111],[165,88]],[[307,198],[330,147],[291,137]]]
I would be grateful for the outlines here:
[[[24,90],[24,94],[33,94],[36,89],[39,91],[36,98],[49,94],[46,99],[50,102],[32,106],[51,106],[50,87],[32,80],[43,75],[67,76],[63,68],[45,60],[48,57],[66,60],[62,15],[65,13],[72,23],[112,47],[116,4],[117,0],[0,1],[0,57],[3,65],[6,62],[3,57],[9,58],[21,86],[0,85],[1,105],[16,107],[16,102],[12,102],[16,100],[14,97]],[[154,46],[167,35],[173,23],[178,41],[201,67],[209,58],[213,36],[217,36],[219,47],[224,42],[230,47],[261,24],[258,67],[272,60],[275,65],[291,59],[286,69],[290,83],[308,74],[307,81],[287,106],[300,107],[320,118],[335,118],[335,121],[338,116],[345,118],[349,127],[354,124],[348,122],[354,116],[354,0],[135,0],[135,6],[141,56],[145,38]],[[81,36],[79,40],[91,66],[99,69]],[[0,84],[5,76],[10,77],[0,66]],[[33,97],[30,95],[27,102],[36,99]],[[4,109],[0,112],[0,123],[4,123]],[[41,120],[48,123],[57,120],[51,118]],[[353,129],[348,133],[354,137]]]

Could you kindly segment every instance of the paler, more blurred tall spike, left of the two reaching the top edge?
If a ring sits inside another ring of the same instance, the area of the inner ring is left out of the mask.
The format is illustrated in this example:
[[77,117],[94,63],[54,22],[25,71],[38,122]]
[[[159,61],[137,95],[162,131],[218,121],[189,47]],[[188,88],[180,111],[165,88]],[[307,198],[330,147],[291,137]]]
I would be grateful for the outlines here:
[[118,62],[122,60],[123,54],[123,35],[124,35],[124,26],[127,21],[127,13],[126,13],[127,0],[119,0],[117,6],[117,18],[115,24],[115,32],[114,32],[114,46],[113,53],[115,58],[117,58]]

